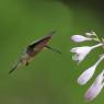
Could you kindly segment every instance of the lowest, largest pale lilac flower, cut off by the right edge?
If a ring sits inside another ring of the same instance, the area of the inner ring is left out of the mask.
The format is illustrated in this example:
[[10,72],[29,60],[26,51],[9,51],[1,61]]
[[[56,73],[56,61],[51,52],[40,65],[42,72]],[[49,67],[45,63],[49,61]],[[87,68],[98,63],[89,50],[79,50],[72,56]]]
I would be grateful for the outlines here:
[[93,84],[86,91],[84,99],[86,102],[94,100],[104,86],[104,70],[99,74]]

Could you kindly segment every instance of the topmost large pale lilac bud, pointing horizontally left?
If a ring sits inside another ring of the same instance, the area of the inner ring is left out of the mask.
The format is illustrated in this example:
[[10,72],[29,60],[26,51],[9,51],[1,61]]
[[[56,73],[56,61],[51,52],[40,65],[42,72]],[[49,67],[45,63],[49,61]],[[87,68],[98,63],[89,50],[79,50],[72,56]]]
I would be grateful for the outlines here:
[[77,42],[77,43],[81,43],[81,42],[85,42],[85,41],[92,41],[92,38],[81,36],[81,35],[73,35],[73,36],[71,36],[71,41]]

